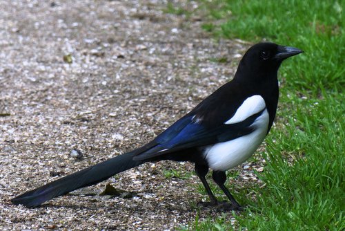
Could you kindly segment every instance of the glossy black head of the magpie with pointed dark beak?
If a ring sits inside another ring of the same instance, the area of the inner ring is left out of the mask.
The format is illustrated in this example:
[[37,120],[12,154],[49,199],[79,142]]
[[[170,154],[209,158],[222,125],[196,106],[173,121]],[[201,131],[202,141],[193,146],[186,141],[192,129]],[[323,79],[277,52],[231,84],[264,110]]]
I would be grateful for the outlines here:
[[257,73],[257,75],[276,75],[284,59],[302,52],[298,48],[280,46],[270,42],[255,44],[242,57],[241,62],[239,62],[239,70],[241,70],[242,75],[244,73],[251,73],[250,76],[253,76],[253,73]]

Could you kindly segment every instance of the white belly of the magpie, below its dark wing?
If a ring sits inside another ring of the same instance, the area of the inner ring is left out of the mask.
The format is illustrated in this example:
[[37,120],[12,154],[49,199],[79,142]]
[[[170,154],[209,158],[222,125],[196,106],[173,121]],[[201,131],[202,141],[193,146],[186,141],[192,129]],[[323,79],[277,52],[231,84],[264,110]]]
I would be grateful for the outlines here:
[[265,109],[250,126],[255,129],[252,133],[235,140],[219,142],[216,145],[206,147],[204,156],[208,166],[216,171],[226,171],[244,163],[254,154],[266,137],[268,122],[268,111]]

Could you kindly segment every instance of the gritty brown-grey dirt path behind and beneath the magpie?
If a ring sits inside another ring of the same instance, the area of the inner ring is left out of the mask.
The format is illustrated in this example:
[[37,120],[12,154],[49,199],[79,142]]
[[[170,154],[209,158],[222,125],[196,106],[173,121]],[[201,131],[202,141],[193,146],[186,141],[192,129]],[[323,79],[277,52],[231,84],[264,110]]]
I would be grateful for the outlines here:
[[[246,44],[215,41],[202,17],[166,14],[159,0],[0,9],[1,230],[175,230],[220,215],[197,207],[197,176],[164,176],[190,163],[148,163],[34,209],[10,198],[148,142],[230,80]],[[246,166],[237,185],[256,181]],[[135,194],[95,195],[107,183]]]

